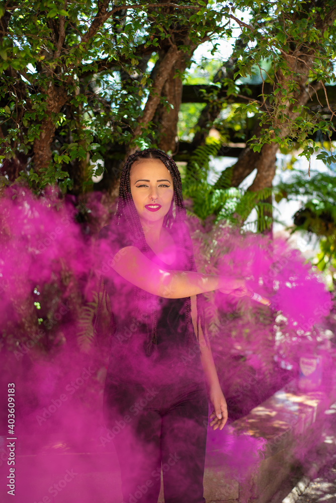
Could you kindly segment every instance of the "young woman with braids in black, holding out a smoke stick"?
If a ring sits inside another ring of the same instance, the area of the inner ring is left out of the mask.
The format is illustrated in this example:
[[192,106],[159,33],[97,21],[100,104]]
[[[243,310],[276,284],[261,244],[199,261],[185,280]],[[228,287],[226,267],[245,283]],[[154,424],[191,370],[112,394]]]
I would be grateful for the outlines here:
[[247,289],[242,279],[197,273],[185,218],[173,159],[154,148],[130,155],[98,241],[113,311],[104,415],[124,503],[157,503],[161,463],[165,503],[205,503],[208,399],[210,426],[227,420],[202,293]]

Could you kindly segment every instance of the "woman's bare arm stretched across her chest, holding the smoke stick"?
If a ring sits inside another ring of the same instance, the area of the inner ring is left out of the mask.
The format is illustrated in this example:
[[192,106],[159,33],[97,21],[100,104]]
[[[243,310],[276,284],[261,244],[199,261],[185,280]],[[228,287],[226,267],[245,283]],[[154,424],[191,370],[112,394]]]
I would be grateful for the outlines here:
[[[146,292],[167,299],[181,299],[219,289],[242,296],[247,293],[243,279],[192,271],[170,271],[147,259],[136,246],[125,246],[108,262],[124,279]],[[112,272],[112,271],[111,271]],[[105,267],[104,274],[109,276]],[[236,292],[233,292],[234,290]]]

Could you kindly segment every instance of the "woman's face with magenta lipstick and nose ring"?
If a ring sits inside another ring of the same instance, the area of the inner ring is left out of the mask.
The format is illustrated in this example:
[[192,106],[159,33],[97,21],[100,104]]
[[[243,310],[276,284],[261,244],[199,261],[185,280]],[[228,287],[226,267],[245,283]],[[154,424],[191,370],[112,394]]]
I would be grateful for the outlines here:
[[140,221],[163,222],[174,199],[173,179],[159,159],[140,159],[130,170],[130,187]]

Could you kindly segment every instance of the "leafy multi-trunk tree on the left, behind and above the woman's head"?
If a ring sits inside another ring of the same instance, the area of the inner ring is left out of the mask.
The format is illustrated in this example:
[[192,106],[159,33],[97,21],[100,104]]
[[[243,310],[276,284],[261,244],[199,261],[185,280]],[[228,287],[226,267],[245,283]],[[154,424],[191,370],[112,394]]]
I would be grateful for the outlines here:
[[204,2],[9,1],[2,9],[3,172],[13,181],[24,168],[31,184],[58,180],[75,194],[90,182],[90,159],[104,157],[111,188],[109,161],[118,165],[125,145],[149,133],[172,148],[182,75],[228,16]]

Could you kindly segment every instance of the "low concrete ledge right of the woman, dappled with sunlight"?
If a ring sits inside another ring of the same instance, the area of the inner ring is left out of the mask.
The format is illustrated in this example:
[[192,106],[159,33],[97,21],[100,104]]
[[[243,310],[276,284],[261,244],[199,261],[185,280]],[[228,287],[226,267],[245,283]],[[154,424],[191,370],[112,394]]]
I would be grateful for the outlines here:
[[325,411],[335,400],[335,376],[327,393],[299,392],[293,381],[221,432],[209,430],[206,502],[269,501],[321,442]]

